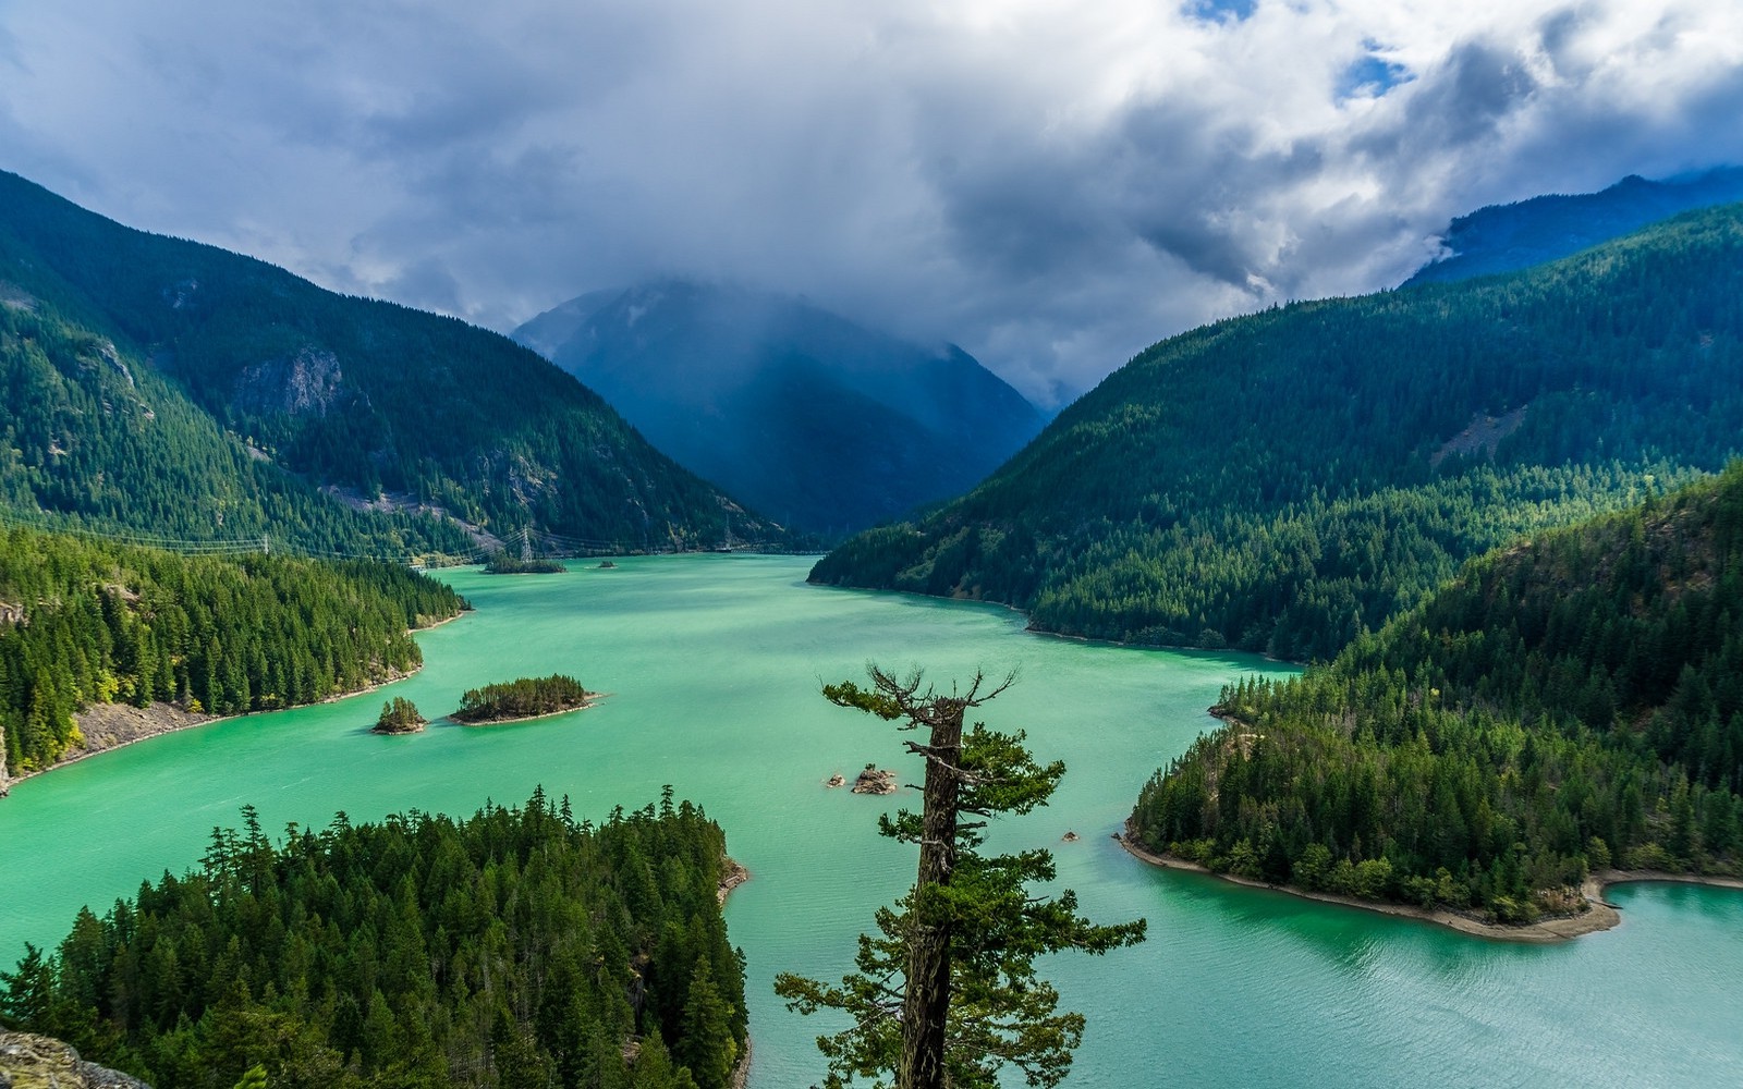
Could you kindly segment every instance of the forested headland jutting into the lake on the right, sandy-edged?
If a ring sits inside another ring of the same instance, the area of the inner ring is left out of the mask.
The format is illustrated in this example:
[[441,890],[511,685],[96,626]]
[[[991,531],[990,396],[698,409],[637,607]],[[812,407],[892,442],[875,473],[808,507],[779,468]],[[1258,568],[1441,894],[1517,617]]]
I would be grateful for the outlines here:
[[1471,561],[1224,692],[1133,831],[1213,869],[1529,920],[1611,864],[1743,873],[1743,462]]

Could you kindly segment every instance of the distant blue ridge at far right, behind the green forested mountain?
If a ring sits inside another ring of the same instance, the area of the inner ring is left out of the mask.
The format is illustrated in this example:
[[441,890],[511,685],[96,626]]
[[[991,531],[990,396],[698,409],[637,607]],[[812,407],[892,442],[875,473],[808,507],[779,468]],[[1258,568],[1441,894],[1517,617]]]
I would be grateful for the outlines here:
[[1447,256],[1417,268],[1403,286],[1445,284],[1530,268],[1619,239],[1677,213],[1736,200],[1743,200],[1743,167],[1719,167],[1663,181],[1630,174],[1598,193],[1556,193],[1516,204],[1490,204],[1454,220],[1443,239]]

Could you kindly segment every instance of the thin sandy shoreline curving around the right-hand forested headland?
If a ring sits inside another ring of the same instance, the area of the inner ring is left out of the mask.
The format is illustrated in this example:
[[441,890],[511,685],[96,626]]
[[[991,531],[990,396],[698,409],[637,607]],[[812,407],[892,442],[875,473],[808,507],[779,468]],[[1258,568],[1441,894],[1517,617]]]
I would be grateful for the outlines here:
[[1361,911],[1372,911],[1375,915],[1391,915],[1394,918],[1414,918],[1417,922],[1434,923],[1468,934],[1471,937],[1485,937],[1490,941],[1515,941],[1525,944],[1553,944],[1562,941],[1570,941],[1583,934],[1597,934],[1600,930],[1609,930],[1621,925],[1621,911],[1604,899],[1604,890],[1611,885],[1626,885],[1635,882],[1668,882],[1682,885],[1708,885],[1713,889],[1743,889],[1743,878],[1733,876],[1705,876],[1696,873],[1666,873],[1659,869],[1604,869],[1584,880],[1579,892],[1586,897],[1588,908],[1579,915],[1562,915],[1555,918],[1544,918],[1534,923],[1490,923],[1480,918],[1471,918],[1469,915],[1461,915],[1457,911],[1448,911],[1445,908],[1419,908],[1415,904],[1394,904],[1384,901],[1365,901],[1354,896],[1339,896],[1335,892],[1309,892],[1306,889],[1297,889],[1293,885],[1272,885],[1267,882],[1234,876],[1229,873],[1215,873],[1197,862],[1189,862],[1187,859],[1157,854],[1149,850],[1142,843],[1135,842],[1129,826],[1114,833],[1114,840],[1119,842],[1121,849],[1140,862],[1157,866],[1161,869],[1182,869],[1187,873],[1203,873],[1213,876],[1220,882],[1229,882],[1231,885],[1245,885],[1248,889],[1267,889],[1271,892],[1281,892],[1285,896],[1293,896],[1297,899],[1316,901],[1321,904],[1337,904],[1340,908],[1358,908]]

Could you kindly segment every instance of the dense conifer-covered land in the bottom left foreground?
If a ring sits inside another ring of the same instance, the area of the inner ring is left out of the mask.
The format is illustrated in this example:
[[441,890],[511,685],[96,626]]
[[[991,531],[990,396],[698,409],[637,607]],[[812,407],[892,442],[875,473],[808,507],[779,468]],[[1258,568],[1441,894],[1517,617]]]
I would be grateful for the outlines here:
[[725,836],[688,802],[577,824],[535,793],[274,845],[251,808],[59,950],[0,1016],[155,1089],[725,1089],[744,965]]

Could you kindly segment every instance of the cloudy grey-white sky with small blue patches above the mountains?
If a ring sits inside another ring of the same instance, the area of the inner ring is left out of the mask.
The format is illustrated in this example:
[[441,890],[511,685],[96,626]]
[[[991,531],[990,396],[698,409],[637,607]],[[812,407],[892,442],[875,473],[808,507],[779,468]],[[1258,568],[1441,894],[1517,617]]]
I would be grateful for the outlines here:
[[1044,404],[1740,113],[1736,0],[0,0],[0,167],[124,223],[497,329],[804,293]]

